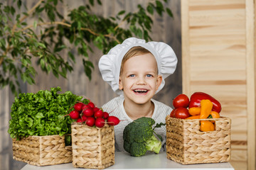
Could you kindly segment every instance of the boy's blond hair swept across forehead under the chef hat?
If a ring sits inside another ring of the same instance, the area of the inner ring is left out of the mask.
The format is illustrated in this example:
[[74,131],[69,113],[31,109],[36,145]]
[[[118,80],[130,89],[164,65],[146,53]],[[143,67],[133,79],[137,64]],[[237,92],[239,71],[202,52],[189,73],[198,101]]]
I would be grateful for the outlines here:
[[146,55],[150,53],[151,55],[153,55],[149,50],[146,50],[146,48],[141,47],[141,46],[135,46],[132,47],[123,57],[122,62],[121,62],[121,68],[120,68],[120,74],[122,74],[123,71],[123,67],[124,67],[124,63],[129,60],[130,58],[134,57],[134,56],[138,56],[138,55]]

